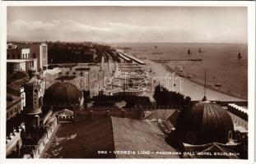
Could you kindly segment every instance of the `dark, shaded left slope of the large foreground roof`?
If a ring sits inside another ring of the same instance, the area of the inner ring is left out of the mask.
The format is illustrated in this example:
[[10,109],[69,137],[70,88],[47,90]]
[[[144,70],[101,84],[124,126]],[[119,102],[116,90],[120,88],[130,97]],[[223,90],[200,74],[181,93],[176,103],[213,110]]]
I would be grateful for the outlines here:
[[114,150],[111,121],[109,118],[95,121],[77,121],[61,124],[49,149],[41,157],[46,158],[106,158],[113,154],[98,154],[98,150]]

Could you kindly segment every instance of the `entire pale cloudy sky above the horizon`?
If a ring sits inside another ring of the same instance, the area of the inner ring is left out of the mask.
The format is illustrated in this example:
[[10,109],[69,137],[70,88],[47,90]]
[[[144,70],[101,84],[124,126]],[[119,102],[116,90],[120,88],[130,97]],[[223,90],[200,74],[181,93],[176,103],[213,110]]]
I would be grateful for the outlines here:
[[247,8],[7,7],[7,40],[247,43]]

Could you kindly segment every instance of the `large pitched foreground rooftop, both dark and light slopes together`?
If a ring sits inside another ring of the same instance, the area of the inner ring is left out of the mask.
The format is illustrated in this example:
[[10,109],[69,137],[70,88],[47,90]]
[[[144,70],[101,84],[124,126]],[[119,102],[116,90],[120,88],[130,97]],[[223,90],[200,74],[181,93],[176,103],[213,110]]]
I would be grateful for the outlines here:
[[[165,143],[165,136],[156,123],[149,121],[109,117],[61,124],[49,148],[41,157],[48,158],[138,158],[161,157],[177,158],[178,155],[156,154],[159,152],[176,153]],[[98,151],[107,151],[99,154]],[[114,154],[114,151],[152,151],[148,155]]]

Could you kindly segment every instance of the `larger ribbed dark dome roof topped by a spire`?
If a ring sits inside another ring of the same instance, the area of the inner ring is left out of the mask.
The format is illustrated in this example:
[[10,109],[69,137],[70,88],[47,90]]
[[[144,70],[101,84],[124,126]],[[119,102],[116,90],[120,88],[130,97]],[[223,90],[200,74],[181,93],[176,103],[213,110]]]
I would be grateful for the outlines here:
[[176,132],[187,144],[227,143],[229,133],[234,130],[228,112],[216,103],[196,103],[192,109],[179,113]]

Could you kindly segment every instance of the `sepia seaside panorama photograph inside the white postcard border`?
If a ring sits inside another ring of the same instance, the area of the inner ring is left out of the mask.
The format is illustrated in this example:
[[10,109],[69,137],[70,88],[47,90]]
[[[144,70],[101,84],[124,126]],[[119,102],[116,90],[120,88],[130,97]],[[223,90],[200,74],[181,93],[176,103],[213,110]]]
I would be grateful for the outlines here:
[[6,10],[7,159],[249,159],[247,6]]

